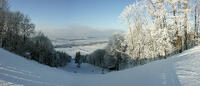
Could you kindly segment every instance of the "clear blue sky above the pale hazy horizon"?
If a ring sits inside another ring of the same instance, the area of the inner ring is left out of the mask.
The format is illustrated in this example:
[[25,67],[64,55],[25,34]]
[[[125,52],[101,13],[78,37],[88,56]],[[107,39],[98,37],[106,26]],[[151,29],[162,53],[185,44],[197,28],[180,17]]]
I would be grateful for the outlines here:
[[83,25],[121,29],[119,15],[134,0],[9,0],[11,10],[29,15],[37,29]]

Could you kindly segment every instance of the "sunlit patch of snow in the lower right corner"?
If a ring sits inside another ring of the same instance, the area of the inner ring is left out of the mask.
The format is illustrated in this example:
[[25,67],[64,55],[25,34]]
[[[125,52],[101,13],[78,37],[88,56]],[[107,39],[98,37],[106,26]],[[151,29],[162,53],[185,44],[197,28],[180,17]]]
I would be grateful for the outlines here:
[[176,72],[183,86],[199,86],[200,85],[200,48],[192,49],[192,52],[186,52],[175,63]]

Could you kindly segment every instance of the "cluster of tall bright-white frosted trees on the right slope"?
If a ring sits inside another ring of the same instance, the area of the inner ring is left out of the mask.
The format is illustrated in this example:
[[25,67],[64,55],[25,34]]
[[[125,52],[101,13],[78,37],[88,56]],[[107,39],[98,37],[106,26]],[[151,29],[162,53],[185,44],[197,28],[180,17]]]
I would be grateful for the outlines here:
[[144,0],[128,5],[120,19],[128,25],[126,53],[134,59],[170,55],[188,48],[191,25],[188,0]]

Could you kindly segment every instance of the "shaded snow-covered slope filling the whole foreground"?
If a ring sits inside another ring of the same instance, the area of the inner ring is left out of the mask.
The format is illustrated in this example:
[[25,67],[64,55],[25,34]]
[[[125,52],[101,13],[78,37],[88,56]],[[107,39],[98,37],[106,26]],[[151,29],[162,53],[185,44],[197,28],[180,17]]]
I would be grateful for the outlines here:
[[200,86],[199,46],[168,59],[106,74],[90,73],[86,70],[93,66],[84,65],[74,73],[0,48],[0,86]]

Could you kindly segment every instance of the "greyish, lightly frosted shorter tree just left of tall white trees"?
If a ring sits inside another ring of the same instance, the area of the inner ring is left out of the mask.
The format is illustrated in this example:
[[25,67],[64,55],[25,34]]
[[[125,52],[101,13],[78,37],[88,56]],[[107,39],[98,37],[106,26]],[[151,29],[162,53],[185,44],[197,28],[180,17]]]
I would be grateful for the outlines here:
[[107,59],[110,61],[106,61],[105,63],[107,65],[113,65],[116,70],[121,69],[122,64],[127,62],[127,55],[125,53],[126,48],[127,45],[124,43],[124,36],[121,33],[115,33],[109,40],[109,43],[106,47],[106,55],[104,57],[107,59],[107,56],[111,56],[112,59]]

